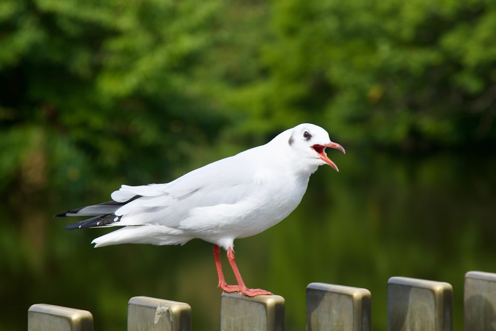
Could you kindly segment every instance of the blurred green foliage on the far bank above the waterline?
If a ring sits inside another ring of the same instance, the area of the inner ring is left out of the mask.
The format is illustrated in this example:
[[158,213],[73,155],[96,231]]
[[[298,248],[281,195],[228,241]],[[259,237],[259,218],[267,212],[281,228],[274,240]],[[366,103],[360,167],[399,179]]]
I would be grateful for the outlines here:
[[37,157],[53,187],[164,180],[307,121],[395,149],[496,141],[494,1],[0,6],[3,188]]

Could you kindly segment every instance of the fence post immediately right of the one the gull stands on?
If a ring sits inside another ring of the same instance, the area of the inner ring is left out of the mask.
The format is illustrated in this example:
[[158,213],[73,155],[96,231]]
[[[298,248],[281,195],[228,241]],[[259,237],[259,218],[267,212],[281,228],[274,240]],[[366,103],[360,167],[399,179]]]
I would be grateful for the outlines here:
[[307,331],[370,329],[369,290],[325,283],[307,286]]

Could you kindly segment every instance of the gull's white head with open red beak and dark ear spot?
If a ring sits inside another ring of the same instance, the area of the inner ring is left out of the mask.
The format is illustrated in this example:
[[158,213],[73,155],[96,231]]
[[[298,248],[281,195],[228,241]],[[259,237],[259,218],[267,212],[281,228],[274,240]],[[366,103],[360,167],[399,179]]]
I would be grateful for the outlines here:
[[288,130],[289,139],[287,144],[296,152],[302,161],[315,165],[315,169],[324,164],[330,165],[339,171],[334,162],[325,153],[325,148],[336,148],[345,153],[344,148],[329,138],[329,134],[322,128],[313,124],[300,124]]

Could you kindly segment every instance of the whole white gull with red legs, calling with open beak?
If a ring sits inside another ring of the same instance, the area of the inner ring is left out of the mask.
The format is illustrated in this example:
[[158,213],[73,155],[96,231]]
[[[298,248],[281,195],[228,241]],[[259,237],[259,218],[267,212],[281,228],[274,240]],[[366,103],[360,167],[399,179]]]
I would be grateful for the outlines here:
[[[310,175],[321,165],[338,167],[325,148],[344,148],[313,124],[279,133],[264,145],[250,148],[166,184],[122,185],[112,201],[55,215],[94,216],[66,226],[68,230],[121,228],[92,241],[95,247],[118,244],[184,245],[199,238],[213,244],[220,287],[246,296],[270,295],[248,288],[234,258],[234,240],[258,234],[286,218],[307,190]],[[228,285],[220,248],[236,276]]]

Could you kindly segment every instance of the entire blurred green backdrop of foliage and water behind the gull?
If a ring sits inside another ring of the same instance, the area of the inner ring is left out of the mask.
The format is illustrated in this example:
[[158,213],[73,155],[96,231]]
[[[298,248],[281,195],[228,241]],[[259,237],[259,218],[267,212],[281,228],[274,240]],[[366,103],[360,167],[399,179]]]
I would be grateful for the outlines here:
[[287,330],[308,283],[365,287],[384,330],[389,277],[447,281],[462,330],[464,273],[496,272],[495,32],[494,0],[2,0],[0,329],[50,303],[125,330],[147,295],[218,330],[210,244],[93,249],[105,229],[52,215],[310,122],[347,154],[235,242],[248,286],[286,298]]

